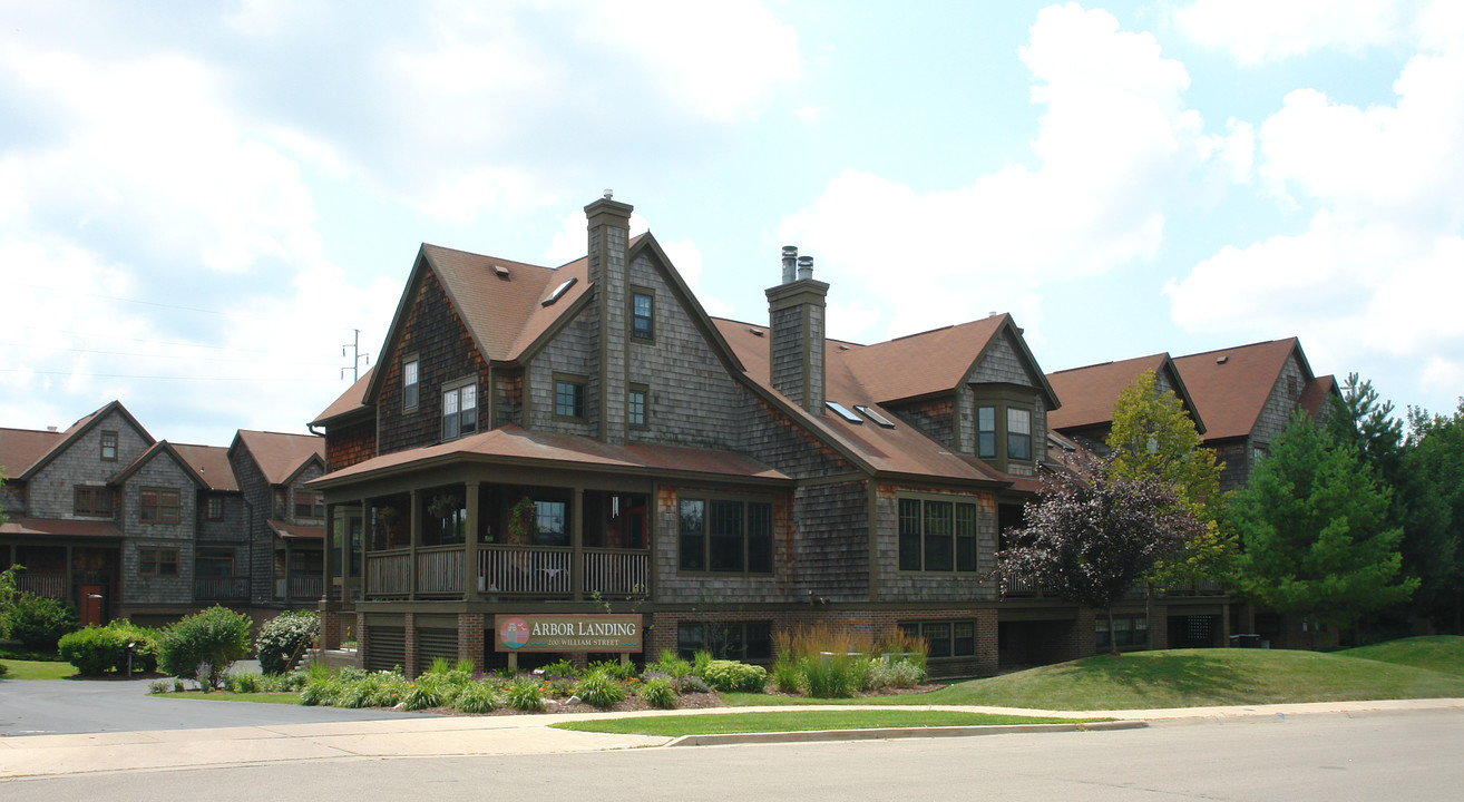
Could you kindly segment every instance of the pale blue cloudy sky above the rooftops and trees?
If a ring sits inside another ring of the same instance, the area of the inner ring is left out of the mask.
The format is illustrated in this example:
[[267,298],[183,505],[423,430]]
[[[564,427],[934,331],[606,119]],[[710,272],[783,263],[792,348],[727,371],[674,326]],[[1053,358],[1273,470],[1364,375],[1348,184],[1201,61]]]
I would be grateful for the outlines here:
[[1300,337],[1448,413],[1461,143],[1455,0],[0,0],[0,427],[303,432],[423,241],[558,266],[606,190],[712,315],[793,244],[834,338]]

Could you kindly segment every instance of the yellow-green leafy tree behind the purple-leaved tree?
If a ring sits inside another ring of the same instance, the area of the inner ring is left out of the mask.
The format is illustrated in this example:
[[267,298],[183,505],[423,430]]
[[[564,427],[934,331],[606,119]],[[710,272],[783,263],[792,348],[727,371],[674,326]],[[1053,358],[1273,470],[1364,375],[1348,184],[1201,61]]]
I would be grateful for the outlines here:
[[1171,487],[1179,503],[1202,525],[1174,556],[1159,559],[1155,584],[1198,584],[1228,572],[1234,536],[1224,525],[1215,452],[1205,448],[1195,421],[1174,391],[1158,392],[1152,370],[1133,379],[1113,407],[1108,476],[1152,477]]

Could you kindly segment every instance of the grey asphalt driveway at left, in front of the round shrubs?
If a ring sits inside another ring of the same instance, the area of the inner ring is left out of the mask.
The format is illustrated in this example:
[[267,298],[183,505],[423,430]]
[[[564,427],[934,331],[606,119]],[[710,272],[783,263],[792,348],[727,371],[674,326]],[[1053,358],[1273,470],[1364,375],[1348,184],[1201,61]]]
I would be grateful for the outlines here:
[[149,697],[146,679],[0,679],[0,738],[309,722],[422,717],[394,710],[341,710]]

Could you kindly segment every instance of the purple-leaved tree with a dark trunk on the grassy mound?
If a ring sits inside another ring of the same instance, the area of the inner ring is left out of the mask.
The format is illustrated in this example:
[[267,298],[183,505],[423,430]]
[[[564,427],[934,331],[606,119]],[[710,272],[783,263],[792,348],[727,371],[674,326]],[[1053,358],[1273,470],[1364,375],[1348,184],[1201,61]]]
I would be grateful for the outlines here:
[[[997,555],[997,572],[1003,593],[1013,580],[1029,580],[1105,610],[1113,632],[1113,603],[1202,525],[1158,479],[1110,476],[1107,461],[1085,474],[1044,481],[1039,499],[1026,505],[1026,525],[1009,534],[1015,546]],[[1116,641],[1111,650],[1118,653]]]

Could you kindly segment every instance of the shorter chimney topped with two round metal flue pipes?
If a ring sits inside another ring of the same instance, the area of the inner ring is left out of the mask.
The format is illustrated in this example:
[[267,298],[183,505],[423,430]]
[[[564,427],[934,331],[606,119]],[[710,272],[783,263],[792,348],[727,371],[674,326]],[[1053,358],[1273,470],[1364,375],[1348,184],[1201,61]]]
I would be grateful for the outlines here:
[[824,405],[824,304],[829,285],[814,281],[814,258],[783,247],[783,282],[767,290],[773,388],[813,414]]

